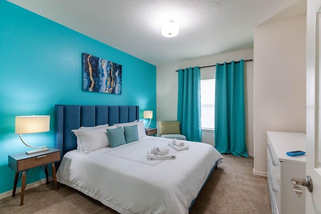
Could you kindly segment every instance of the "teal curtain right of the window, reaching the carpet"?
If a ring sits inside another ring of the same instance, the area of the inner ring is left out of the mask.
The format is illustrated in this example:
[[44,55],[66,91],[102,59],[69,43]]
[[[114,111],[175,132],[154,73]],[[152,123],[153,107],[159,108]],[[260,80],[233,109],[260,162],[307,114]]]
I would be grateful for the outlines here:
[[216,65],[215,148],[248,157],[245,141],[244,61]]

